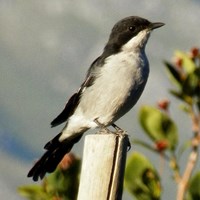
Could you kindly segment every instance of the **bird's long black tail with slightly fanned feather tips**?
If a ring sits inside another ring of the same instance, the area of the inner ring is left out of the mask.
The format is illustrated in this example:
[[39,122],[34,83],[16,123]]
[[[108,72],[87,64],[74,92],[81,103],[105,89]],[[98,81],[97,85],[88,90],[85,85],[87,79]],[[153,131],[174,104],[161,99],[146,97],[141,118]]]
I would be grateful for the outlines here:
[[76,137],[60,142],[60,135],[61,133],[44,146],[44,149],[46,149],[47,151],[29,171],[27,176],[33,177],[34,181],[38,181],[39,177],[40,179],[43,179],[47,172],[53,172],[64,157],[64,155],[66,153],[69,153],[73,145],[78,142],[82,137],[82,134],[79,134]]

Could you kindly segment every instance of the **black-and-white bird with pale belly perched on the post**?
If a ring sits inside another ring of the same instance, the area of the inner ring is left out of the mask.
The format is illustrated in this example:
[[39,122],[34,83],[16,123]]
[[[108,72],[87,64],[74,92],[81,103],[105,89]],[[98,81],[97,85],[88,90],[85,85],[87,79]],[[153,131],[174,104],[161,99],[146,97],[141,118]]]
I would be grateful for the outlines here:
[[65,122],[64,128],[44,146],[45,153],[28,177],[38,181],[53,172],[87,130],[119,128],[115,122],[136,104],[149,76],[145,53],[149,36],[163,25],[138,16],[123,18],[114,25],[102,54],[90,65],[84,82],[51,122],[51,127]]

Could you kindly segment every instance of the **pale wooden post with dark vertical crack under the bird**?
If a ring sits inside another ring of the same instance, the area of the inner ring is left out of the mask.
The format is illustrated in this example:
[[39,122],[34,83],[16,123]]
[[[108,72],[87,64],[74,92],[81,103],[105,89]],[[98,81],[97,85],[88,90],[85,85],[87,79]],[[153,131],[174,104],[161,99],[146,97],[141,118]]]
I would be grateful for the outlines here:
[[122,132],[86,136],[78,200],[121,200],[128,144]]

